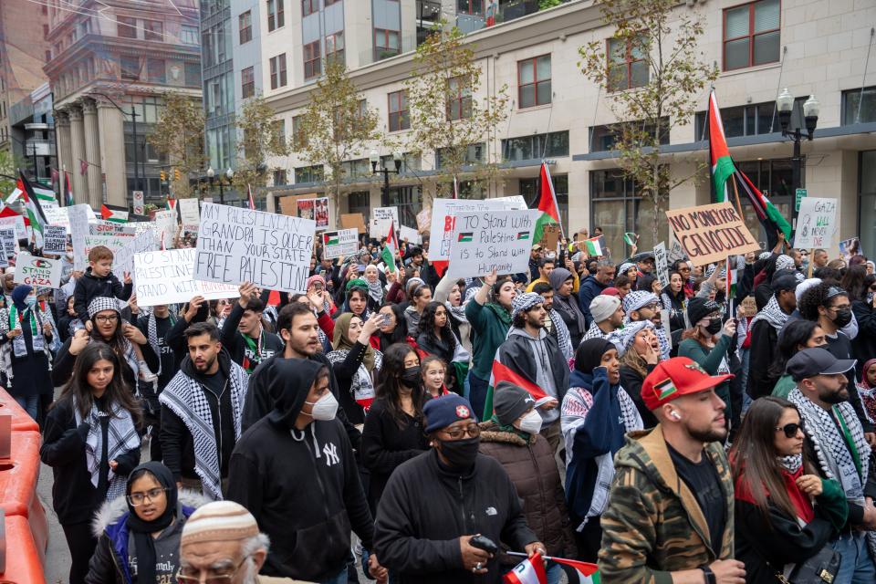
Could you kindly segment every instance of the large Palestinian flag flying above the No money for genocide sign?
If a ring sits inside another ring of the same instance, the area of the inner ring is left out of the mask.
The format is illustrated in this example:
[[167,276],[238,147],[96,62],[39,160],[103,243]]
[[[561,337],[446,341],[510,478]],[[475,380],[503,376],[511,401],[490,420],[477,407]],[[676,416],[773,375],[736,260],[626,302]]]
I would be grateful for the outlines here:
[[744,172],[736,169],[730,157],[730,149],[727,148],[724,122],[721,120],[718,100],[714,97],[714,89],[709,94],[709,154],[715,201],[723,203],[728,200],[728,189],[733,188],[735,181],[736,187],[748,197],[758,221],[767,232],[767,248],[776,245],[778,230],[782,230],[787,241],[791,241],[791,225],[787,223],[785,217],[763,193],[756,189]]

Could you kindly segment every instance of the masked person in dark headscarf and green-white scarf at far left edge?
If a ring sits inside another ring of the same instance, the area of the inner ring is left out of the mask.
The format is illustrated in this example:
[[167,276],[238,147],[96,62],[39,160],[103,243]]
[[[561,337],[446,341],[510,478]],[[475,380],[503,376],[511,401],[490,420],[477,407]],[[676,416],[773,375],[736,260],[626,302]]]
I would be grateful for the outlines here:
[[54,391],[48,347],[56,331],[33,292],[26,284],[16,286],[12,303],[0,310],[0,352],[8,362],[6,391],[36,420],[39,396]]

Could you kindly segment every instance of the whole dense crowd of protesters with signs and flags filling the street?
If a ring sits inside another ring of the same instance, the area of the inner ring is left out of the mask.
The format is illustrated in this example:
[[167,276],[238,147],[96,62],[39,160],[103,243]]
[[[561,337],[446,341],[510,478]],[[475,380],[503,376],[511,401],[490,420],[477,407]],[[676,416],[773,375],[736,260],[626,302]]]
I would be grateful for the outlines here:
[[[58,206],[20,173],[0,385],[68,582],[876,581],[874,263],[722,139],[715,202],[652,249],[564,231],[547,167],[534,202],[370,233]],[[183,561],[216,542],[242,563]]]

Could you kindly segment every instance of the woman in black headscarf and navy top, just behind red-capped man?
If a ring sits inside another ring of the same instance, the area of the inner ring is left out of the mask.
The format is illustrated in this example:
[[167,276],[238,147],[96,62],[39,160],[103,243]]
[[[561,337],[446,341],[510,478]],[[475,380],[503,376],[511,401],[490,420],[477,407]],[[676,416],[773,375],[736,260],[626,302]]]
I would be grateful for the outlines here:
[[620,387],[618,349],[610,340],[585,340],[575,352],[560,423],[566,441],[566,497],[579,558],[595,562],[600,516],[614,476],[614,454],[624,434],[644,426],[636,404]]

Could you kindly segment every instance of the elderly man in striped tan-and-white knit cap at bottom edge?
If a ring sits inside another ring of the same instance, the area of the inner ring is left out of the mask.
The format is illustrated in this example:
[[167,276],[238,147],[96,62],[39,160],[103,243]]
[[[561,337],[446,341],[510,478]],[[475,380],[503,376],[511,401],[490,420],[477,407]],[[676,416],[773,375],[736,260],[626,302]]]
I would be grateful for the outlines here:
[[255,517],[232,501],[215,501],[195,511],[180,540],[180,584],[305,584],[302,580],[259,576],[270,541]]

